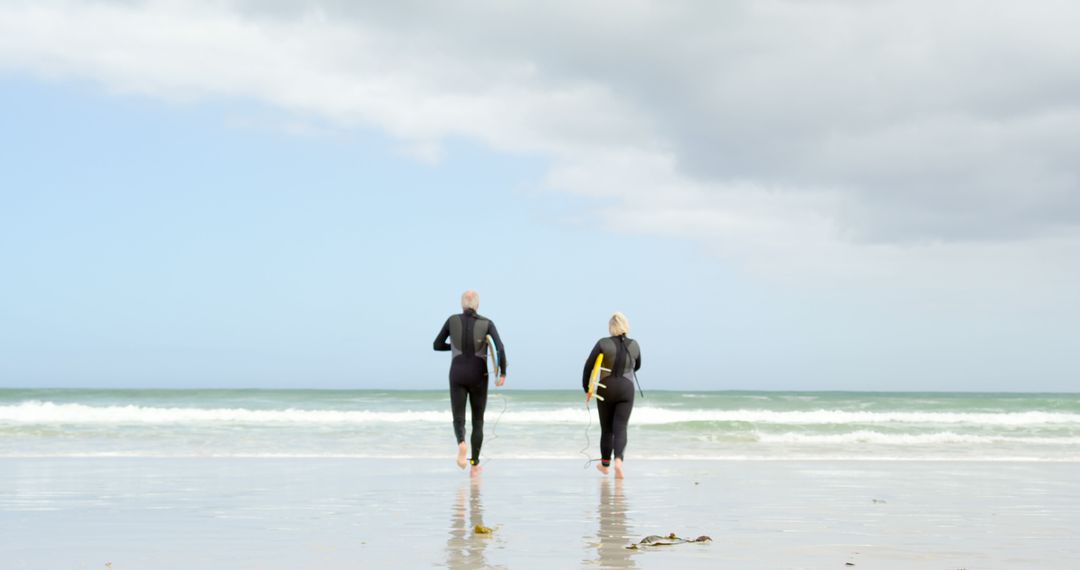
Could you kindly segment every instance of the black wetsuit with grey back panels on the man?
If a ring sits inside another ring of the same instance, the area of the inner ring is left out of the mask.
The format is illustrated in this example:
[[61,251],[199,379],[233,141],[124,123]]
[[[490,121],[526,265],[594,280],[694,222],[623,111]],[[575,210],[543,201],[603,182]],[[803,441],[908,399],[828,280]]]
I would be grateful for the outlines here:
[[[454,411],[454,434],[458,443],[465,440],[465,401],[472,407],[472,464],[480,462],[484,444],[484,408],[487,406],[487,336],[495,341],[499,354],[499,376],[507,376],[507,352],[502,339],[489,318],[467,309],[450,315],[435,337],[437,351],[453,351],[450,361],[450,409]],[[449,339],[449,342],[446,340]]]

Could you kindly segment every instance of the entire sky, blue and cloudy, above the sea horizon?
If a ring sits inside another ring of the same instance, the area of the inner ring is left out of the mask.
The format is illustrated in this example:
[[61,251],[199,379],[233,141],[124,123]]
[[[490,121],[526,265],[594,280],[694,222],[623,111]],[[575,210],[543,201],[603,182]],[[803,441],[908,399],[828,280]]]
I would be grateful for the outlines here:
[[1078,17],[0,0],[0,386],[1076,391]]

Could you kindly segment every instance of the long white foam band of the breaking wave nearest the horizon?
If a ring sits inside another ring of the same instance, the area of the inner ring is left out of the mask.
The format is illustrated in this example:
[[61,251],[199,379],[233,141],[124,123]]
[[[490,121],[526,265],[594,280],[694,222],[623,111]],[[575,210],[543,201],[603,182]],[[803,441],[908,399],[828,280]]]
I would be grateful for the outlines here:
[[[595,415],[595,410],[590,413]],[[488,420],[498,416],[491,407]],[[510,409],[501,415],[505,424],[578,424],[585,410],[577,407],[556,409]],[[151,406],[89,406],[52,402],[23,402],[0,406],[0,423],[16,424],[172,424],[172,423],[242,423],[242,424],[368,424],[368,423],[446,423],[449,410],[327,410],[327,409],[248,409],[248,408],[183,408]],[[951,412],[951,411],[848,411],[809,410],[775,411],[760,409],[704,410],[664,409],[650,406],[634,408],[632,423],[665,425],[688,422],[742,422],[779,425],[866,425],[923,424],[972,426],[1080,426],[1080,413],[1022,412]]]

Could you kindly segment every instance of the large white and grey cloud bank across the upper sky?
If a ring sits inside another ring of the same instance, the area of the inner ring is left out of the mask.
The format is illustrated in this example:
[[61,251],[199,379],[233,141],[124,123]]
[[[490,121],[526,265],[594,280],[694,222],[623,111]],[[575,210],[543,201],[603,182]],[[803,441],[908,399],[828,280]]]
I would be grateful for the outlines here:
[[5,1],[0,68],[253,98],[381,128],[424,162],[448,137],[544,155],[548,184],[603,199],[611,229],[765,271],[998,259],[985,277],[1075,253],[1077,16],[1065,1]]

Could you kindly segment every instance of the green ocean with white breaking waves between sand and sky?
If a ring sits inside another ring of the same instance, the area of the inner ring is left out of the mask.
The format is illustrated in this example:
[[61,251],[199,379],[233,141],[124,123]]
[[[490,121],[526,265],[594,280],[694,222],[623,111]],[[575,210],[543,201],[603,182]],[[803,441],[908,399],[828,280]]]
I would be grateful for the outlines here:
[[[483,459],[594,459],[595,405],[497,390]],[[1080,462],[1080,394],[663,392],[627,460]],[[0,457],[440,459],[445,391],[0,390]]]

